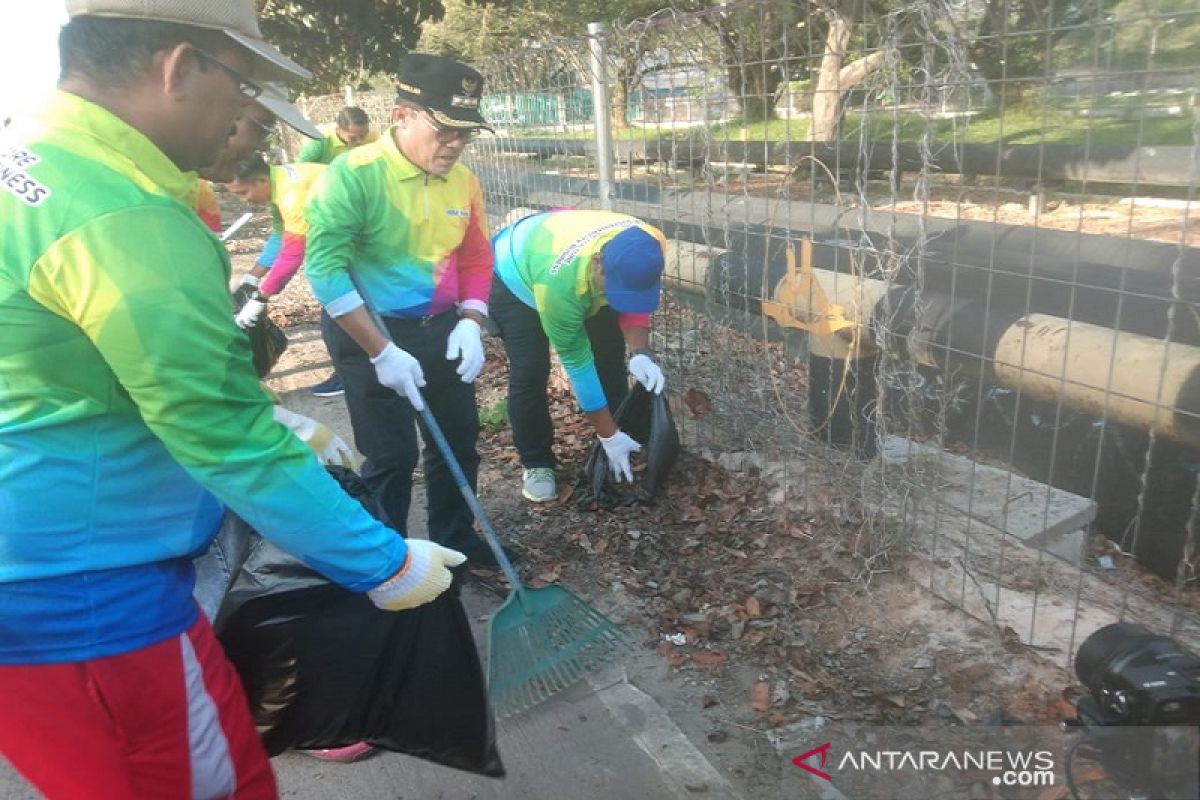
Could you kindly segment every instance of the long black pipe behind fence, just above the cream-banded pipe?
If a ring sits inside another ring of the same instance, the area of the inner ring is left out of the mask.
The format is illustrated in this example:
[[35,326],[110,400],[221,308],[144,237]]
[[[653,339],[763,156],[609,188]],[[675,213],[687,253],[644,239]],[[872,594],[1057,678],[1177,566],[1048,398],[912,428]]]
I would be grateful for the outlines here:
[[[498,206],[590,207],[595,181],[533,169],[479,166],[485,186],[509,187],[490,197]],[[636,215],[668,237],[727,251],[708,271],[712,300],[757,309],[764,287],[786,270],[786,248],[800,237],[815,242],[814,260],[839,272],[862,270],[857,252],[900,254],[865,264],[868,277],[882,267],[890,278],[991,306],[1066,317],[1162,338],[1177,295],[1200,303],[1200,249],[1128,237],[959,222],[914,215],[840,209],[833,205],[728,196],[707,191],[661,191],[618,181],[614,210]],[[714,207],[725,212],[714,227]],[[907,255],[905,255],[907,254]],[[1193,313],[1176,313],[1172,338],[1200,344]]]

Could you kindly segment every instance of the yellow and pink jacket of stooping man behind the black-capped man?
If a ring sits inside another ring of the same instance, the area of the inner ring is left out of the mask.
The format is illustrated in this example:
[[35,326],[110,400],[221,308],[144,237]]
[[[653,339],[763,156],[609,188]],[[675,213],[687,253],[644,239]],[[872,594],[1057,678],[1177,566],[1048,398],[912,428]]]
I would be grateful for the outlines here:
[[258,288],[266,295],[283,291],[304,264],[308,221],[304,207],[325,164],[271,167],[271,235],[258,254],[258,264],[269,272]]

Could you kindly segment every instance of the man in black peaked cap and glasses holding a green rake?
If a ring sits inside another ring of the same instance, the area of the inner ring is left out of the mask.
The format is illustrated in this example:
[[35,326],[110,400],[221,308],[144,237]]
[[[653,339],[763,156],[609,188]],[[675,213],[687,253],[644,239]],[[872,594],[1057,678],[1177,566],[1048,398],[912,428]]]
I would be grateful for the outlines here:
[[[366,457],[362,477],[402,525],[420,453],[414,408],[422,402],[475,485],[474,380],[484,366],[492,249],[479,181],[458,158],[491,128],[479,113],[484,78],[475,70],[414,53],[397,78],[391,127],[335,160],[314,190],[306,271],[332,318],[322,332],[346,383],[355,444]],[[476,565],[493,565],[440,452],[422,434],[430,536]]]

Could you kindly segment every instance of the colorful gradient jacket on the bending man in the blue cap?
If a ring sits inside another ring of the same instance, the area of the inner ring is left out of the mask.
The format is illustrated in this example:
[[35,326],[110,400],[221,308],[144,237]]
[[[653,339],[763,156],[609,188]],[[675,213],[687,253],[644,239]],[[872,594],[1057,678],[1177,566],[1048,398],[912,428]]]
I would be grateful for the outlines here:
[[[607,403],[596,373],[584,320],[608,305],[592,277],[592,257],[622,230],[637,225],[666,252],[662,233],[636,217],[610,211],[544,211],[502,229],[496,276],[521,302],[541,317],[546,338],[563,361],[571,389],[584,411]],[[618,314],[622,330],[649,327],[649,314]]]

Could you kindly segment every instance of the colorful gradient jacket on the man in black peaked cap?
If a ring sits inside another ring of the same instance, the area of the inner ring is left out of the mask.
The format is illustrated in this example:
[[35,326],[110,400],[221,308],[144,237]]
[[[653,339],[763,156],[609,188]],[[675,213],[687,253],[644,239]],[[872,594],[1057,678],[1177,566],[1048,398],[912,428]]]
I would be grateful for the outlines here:
[[362,300],[353,265],[385,317],[427,317],[455,305],[487,313],[492,248],[484,194],[469,169],[427,175],[386,131],[325,170],[308,200],[308,283],[332,317]]

